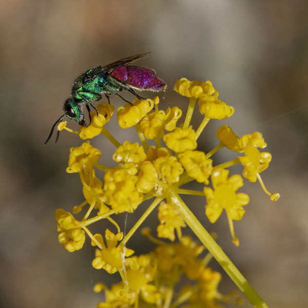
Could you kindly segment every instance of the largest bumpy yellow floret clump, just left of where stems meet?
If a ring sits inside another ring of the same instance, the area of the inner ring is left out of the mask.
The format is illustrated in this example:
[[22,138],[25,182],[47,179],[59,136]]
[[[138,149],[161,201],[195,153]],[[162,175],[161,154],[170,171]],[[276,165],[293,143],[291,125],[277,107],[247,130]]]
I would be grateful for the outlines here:
[[106,171],[104,177],[106,203],[110,204],[116,213],[123,211],[132,213],[142,202],[143,195],[136,188],[137,171],[132,163],[119,164]]

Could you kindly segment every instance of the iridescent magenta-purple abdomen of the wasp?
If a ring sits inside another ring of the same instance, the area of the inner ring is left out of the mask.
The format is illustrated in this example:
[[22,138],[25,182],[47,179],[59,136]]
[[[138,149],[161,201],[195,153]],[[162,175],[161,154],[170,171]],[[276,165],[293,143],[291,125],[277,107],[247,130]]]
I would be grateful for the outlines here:
[[120,65],[108,74],[120,83],[140,90],[161,91],[166,88],[154,70],[143,66]]

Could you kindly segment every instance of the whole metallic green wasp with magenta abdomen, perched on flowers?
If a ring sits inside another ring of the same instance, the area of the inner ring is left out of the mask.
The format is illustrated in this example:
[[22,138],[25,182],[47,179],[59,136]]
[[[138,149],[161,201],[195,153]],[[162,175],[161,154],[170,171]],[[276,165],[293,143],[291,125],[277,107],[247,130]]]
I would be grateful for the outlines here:
[[[155,70],[144,66],[128,65],[148,55],[149,52],[133,55],[103,67],[90,68],[78,76],[74,82],[70,97],[64,103],[64,113],[53,124],[45,144],[51,138],[55,126],[63,118],[74,120],[78,124],[87,127],[82,105],[86,105],[91,121],[90,106],[97,111],[92,102],[100,101],[102,94],[106,96],[108,102],[109,95],[114,94],[125,102],[130,103],[119,92],[126,90],[138,99],[142,99],[136,90],[165,91],[167,85],[158,78]],[[58,138],[59,131],[57,133]]]

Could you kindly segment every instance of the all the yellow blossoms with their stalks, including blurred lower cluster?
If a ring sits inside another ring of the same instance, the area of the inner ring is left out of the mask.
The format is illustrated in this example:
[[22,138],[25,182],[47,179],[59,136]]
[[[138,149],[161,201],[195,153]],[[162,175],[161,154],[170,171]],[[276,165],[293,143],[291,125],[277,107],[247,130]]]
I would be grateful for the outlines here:
[[[228,259],[222,249],[209,235],[199,220],[185,204],[180,195],[204,197],[205,215],[215,223],[225,211],[230,234],[235,245],[235,220],[241,220],[244,206],[249,197],[238,192],[244,185],[243,177],[250,182],[260,182],[271,200],[279,194],[270,194],[265,188],[260,173],[268,167],[271,154],[260,152],[266,147],[260,132],[236,136],[226,125],[219,127],[216,136],[218,145],[208,153],[196,150],[197,140],[210,119],[222,120],[234,113],[234,108],[222,102],[218,91],[211,82],[177,81],[175,90],[189,98],[184,123],[178,121],[182,110],[178,107],[159,109],[159,98],[153,100],[135,99],[132,103],[118,108],[118,122],[121,128],[136,128],[140,143],[125,141],[120,144],[107,131],[105,124],[110,121],[114,107],[105,102],[91,113],[88,127],[80,127],[79,132],[66,128],[61,122],[59,129],[79,134],[81,139],[90,139],[101,133],[115,146],[112,156],[115,166],[108,168],[99,162],[102,152],[90,145],[89,141],[70,149],[67,172],[78,172],[83,185],[85,201],[73,208],[79,213],[87,207],[84,218],[75,220],[72,214],[63,209],[56,211],[59,242],[73,252],[83,247],[86,234],[96,247],[92,265],[105,269],[109,274],[119,272],[122,281],[109,289],[103,283],[94,287],[95,292],[105,291],[105,302],[98,307],[222,307],[223,302],[237,303],[241,300],[234,292],[222,295],[218,291],[221,275],[208,267],[214,257],[229,277],[235,282],[254,307],[267,307],[251,285]],[[199,127],[190,125],[192,113],[198,101],[199,112],[204,115]],[[154,110],[153,110],[154,109]],[[149,145],[153,140],[155,145]],[[229,162],[215,165],[212,156],[222,147],[238,153]],[[242,164],[243,174],[229,175],[229,168]],[[95,170],[104,172],[99,179]],[[203,190],[186,189],[182,185],[196,181],[204,185]],[[115,222],[119,213],[133,213],[145,200],[153,199],[136,224],[124,236]],[[158,207],[159,225],[157,237],[148,229],[142,233],[157,244],[153,252],[136,256],[127,244],[144,220]],[[90,217],[90,214],[92,218]],[[88,226],[102,219],[114,225],[114,231],[92,234]],[[188,225],[202,242],[198,245],[191,238],[183,236],[183,228]],[[176,241],[176,238],[178,239]],[[161,239],[168,239],[169,242]],[[205,252],[205,248],[208,253]],[[181,278],[186,276],[191,283],[183,285]],[[176,293],[175,288],[180,292]]]

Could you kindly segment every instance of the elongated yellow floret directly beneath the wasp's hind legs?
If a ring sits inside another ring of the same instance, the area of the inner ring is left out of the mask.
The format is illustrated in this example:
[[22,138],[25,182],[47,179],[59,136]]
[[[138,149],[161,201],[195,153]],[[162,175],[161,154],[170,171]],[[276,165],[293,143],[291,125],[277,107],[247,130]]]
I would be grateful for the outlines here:
[[133,105],[126,104],[118,108],[118,122],[121,128],[128,128],[136,125],[140,120],[152,110],[154,103],[152,100],[133,100]]

